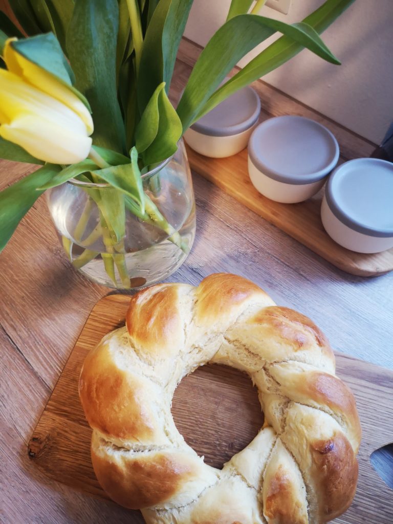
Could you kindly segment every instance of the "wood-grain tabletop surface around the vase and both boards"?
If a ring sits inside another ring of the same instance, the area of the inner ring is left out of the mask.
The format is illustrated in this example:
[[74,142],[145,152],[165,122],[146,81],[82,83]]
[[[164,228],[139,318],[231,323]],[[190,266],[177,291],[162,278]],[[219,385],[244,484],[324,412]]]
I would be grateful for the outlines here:
[[[187,63],[177,63],[174,91],[185,84],[189,71]],[[296,102],[267,85],[264,89],[269,111],[292,111]],[[340,126],[330,128],[348,157],[358,150],[368,156],[373,150],[361,137],[351,136],[345,143],[350,136],[345,129],[341,136]],[[0,161],[0,190],[32,169]],[[369,279],[346,274],[196,173],[193,182],[196,240],[187,261],[168,281],[198,285],[216,271],[250,278],[277,303],[310,316],[337,350],[393,368],[393,273]],[[0,256],[0,288],[1,524],[129,523],[127,510],[49,479],[27,454],[29,438],[89,312],[108,293],[68,262],[45,196]],[[362,374],[373,375],[373,367],[364,364]],[[379,421],[373,417],[368,423],[378,436]],[[361,513],[363,508],[358,509]],[[371,517],[367,524],[391,522],[391,517]]]

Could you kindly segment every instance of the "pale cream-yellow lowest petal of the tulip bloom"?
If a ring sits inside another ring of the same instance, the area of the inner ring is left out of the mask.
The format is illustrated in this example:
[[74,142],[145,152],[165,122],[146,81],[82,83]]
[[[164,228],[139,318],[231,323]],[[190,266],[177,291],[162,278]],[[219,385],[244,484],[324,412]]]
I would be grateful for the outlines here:
[[30,155],[56,164],[84,160],[92,145],[90,137],[72,133],[46,119],[41,119],[37,125],[37,118],[31,115],[1,125],[0,136],[23,147]]

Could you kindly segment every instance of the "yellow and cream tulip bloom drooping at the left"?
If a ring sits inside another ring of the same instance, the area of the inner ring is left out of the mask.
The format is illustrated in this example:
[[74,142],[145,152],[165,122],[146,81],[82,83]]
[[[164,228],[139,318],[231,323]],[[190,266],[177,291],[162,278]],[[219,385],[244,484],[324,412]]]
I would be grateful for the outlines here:
[[46,162],[77,163],[90,151],[91,115],[66,85],[30,62],[8,39],[0,69],[0,136]]

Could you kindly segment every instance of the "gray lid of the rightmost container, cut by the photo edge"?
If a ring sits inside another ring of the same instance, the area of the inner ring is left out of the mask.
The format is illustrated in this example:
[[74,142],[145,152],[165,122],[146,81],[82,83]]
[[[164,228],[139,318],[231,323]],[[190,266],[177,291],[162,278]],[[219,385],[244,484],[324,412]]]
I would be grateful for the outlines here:
[[343,163],[326,184],[326,202],[352,230],[393,236],[393,163],[378,158]]

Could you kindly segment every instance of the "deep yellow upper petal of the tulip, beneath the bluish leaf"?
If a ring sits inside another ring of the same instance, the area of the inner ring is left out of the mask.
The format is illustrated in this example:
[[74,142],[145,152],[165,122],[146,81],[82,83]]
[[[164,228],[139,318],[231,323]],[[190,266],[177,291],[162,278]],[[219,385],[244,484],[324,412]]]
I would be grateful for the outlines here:
[[66,85],[62,84],[52,74],[27,60],[12,46],[15,38],[9,38],[4,47],[4,61],[10,72],[35,86],[38,90],[48,94],[65,104],[76,113],[86,126],[86,134],[91,135],[94,130],[93,121],[88,108]]

